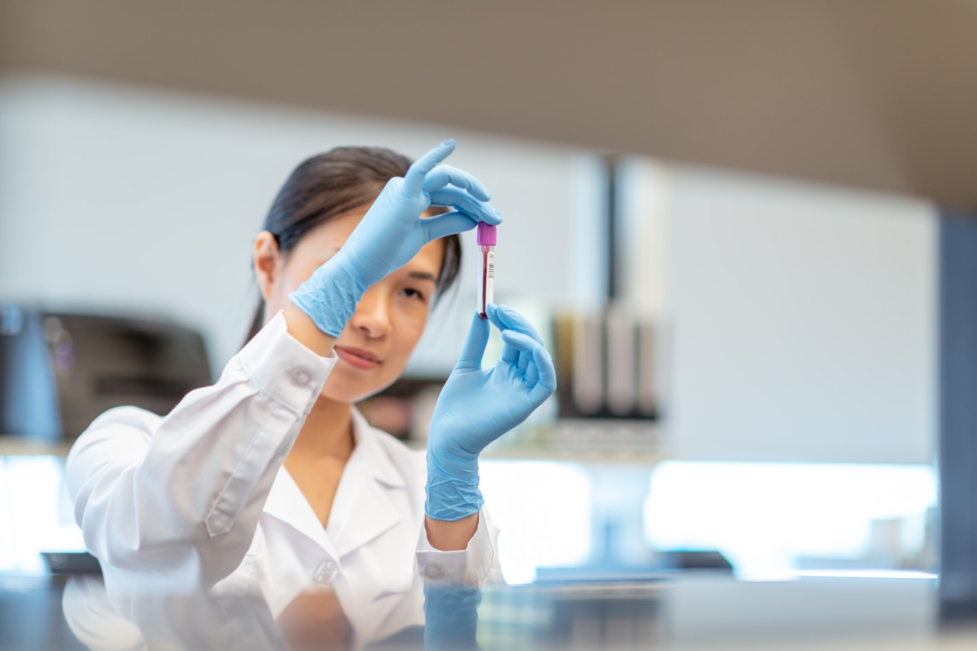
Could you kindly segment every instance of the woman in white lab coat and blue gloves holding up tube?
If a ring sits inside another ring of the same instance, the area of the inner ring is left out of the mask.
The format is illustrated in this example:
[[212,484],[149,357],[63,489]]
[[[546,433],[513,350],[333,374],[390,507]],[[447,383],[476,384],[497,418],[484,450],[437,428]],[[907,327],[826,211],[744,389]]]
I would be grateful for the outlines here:
[[109,590],[260,590],[278,613],[328,586],[376,618],[418,577],[484,580],[478,456],[555,388],[538,333],[492,307],[504,349],[483,369],[489,323],[473,316],[426,463],[353,407],[404,370],[457,273],[457,233],[501,222],[481,183],[441,165],[453,149],[409,167],[374,148],[300,165],[255,240],[264,327],[165,418],[120,407],[79,437],[68,490]]

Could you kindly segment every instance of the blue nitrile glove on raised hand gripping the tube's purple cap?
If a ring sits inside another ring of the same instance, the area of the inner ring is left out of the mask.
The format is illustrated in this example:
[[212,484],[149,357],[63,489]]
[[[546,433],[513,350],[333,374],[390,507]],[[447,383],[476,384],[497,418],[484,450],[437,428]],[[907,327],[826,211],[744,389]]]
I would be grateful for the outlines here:
[[[410,262],[428,242],[479,222],[502,222],[478,179],[439,166],[452,151],[454,141],[442,142],[411,165],[404,178],[391,179],[339,252],[288,295],[319,330],[338,338],[369,286]],[[421,219],[430,206],[454,210]]]

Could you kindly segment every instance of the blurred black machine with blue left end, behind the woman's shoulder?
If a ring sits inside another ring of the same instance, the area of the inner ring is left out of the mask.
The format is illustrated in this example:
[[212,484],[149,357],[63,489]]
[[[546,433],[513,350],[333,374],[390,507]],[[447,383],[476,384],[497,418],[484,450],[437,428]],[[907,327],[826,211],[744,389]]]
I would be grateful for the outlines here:
[[0,306],[0,434],[71,440],[106,409],[163,415],[209,384],[202,337],[176,323]]

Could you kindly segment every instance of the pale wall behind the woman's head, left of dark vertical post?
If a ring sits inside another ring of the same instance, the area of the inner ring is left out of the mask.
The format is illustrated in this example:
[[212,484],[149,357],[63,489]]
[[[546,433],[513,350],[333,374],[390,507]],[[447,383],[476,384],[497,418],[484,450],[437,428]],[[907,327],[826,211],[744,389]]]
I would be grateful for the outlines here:
[[[339,144],[418,156],[446,137],[458,140],[450,163],[486,183],[506,219],[497,296],[587,300],[569,252],[597,243],[565,227],[596,215],[579,200],[598,196],[584,152],[52,77],[0,83],[0,300],[170,315],[202,330],[217,370],[256,302],[252,238],[295,165]],[[416,373],[446,372],[460,347],[477,275],[474,235],[463,242],[456,303],[439,307]]]

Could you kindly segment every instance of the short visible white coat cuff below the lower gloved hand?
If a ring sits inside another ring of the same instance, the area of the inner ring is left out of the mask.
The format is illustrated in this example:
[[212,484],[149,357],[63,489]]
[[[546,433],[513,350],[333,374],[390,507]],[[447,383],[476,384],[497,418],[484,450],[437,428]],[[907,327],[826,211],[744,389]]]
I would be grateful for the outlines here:
[[498,529],[491,523],[488,510],[479,511],[479,527],[466,549],[435,549],[421,531],[417,545],[418,578],[425,583],[450,583],[481,587],[501,577],[497,550]]

